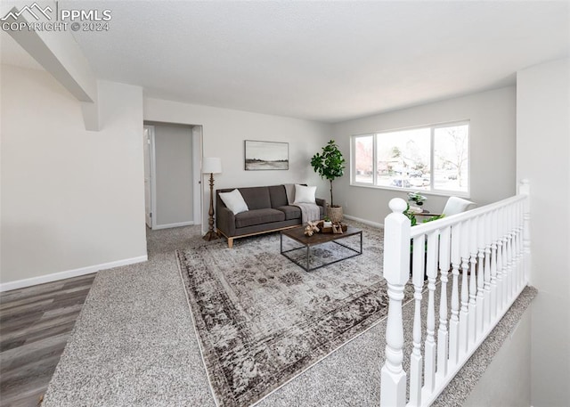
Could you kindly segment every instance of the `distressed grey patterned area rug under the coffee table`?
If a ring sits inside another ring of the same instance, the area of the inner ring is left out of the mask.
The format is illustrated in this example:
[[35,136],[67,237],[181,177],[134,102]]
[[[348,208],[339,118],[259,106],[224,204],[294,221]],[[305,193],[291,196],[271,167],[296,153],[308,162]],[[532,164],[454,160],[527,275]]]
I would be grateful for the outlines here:
[[382,231],[362,229],[362,256],[310,273],[281,256],[279,234],[177,252],[217,405],[256,403],[386,316]]

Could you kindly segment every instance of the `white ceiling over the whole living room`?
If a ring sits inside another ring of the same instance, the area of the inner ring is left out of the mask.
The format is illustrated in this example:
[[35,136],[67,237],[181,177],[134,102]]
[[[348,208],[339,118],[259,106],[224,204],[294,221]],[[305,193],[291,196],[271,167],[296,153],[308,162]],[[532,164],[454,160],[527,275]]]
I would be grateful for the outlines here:
[[73,33],[99,78],[330,123],[512,85],[570,50],[568,1],[60,4],[111,11],[109,31]]

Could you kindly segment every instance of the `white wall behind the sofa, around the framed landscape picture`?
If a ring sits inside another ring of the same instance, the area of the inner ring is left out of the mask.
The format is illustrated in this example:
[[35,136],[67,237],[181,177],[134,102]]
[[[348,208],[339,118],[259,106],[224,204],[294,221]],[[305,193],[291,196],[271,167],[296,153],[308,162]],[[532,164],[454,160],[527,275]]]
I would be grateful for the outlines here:
[[[215,175],[215,189],[278,183],[317,185],[317,196],[328,197],[328,185],[314,173],[310,159],[330,139],[331,126],[240,110],[219,109],[145,98],[144,119],[201,125],[204,157],[222,159],[223,173]],[[244,140],[289,142],[289,170],[245,171]],[[209,184],[204,186],[204,219],[208,224]],[[327,199],[330,200],[330,199]]]

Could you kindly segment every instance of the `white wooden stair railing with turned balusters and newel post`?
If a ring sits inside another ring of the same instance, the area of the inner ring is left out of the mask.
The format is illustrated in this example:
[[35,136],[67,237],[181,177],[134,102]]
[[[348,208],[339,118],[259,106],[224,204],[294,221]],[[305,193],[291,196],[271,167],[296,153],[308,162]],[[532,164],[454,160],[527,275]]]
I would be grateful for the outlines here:
[[[433,403],[525,289],[530,271],[528,194],[529,184],[523,181],[517,196],[413,227],[403,215],[406,202],[390,201],[392,213],[384,223],[389,305],[381,407]],[[402,306],[410,274],[413,347],[405,355]],[[410,358],[409,378],[404,357]]]

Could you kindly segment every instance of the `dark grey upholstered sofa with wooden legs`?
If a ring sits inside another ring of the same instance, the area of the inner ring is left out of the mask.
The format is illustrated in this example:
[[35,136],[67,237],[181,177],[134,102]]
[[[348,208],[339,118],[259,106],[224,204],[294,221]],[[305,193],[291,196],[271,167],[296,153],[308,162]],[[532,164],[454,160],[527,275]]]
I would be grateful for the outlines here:
[[[288,204],[284,185],[237,189],[249,208],[248,211],[237,215],[233,215],[219,197],[220,192],[233,191],[235,188],[216,190],[216,229],[227,238],[229,248],[233,247],[234,239],[275,232],[301,224],[301,209]],[[316,204],[322,219],[326,201],[317,198]]]

